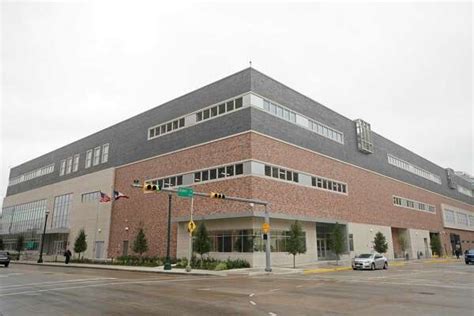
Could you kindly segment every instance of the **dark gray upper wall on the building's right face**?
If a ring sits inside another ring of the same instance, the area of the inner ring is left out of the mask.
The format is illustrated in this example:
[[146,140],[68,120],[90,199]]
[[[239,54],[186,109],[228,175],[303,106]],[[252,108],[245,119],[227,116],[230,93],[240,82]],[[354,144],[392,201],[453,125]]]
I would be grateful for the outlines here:
[[[448,188],[445,169],[385,139],[377,133],[373,133],[375,152],[373,154],[361,153],[357,149],[355,123],[352,120],[326,108],[325,106],[254,69],[252,69],[252,91],[343,132],[344,145],[326,139],[325,137],[319,136],[303,128],[295,128],[295,125],[259,110],[252,111],[253,130],[365,169],[426,188],[430,191],[450,196],[469,204],[474,204],[474,198],[461,194],[457,190]],[[387,161],[387,153],[393,154],[398,158],[439,175],[441,177],[442,185],[389,165]],[[458,183],[465,183],[465,185],[467,185],[467,181],[464,181],[459,177],[458,179]],[[466,187],[469,188],[469,186]]]

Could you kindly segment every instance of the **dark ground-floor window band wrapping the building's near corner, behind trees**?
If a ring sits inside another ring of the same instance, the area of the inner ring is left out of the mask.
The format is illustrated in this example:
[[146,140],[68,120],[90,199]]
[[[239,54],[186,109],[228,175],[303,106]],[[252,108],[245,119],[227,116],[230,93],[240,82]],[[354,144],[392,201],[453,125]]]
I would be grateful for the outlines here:
[[[211,252],[264,252],[265,241],[261,231],[228,230],[210,231]],[[270,249],[272,252],[287,252],[289,231],[272,230],[270,234]],[[301,239],[306,243],[306,233],[303,232]]]

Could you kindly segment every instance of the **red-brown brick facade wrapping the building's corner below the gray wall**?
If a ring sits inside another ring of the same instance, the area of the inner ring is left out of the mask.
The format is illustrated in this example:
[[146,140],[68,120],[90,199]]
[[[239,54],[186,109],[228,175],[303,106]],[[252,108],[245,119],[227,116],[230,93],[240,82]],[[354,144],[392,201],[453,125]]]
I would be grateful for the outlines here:
[[[443,228],[441,203],[474,212],[472,205],[402,183],[352,165],[330,159],[308,150],[277,141],[262,134],[248,132],[203,144],[179,152],[130,164],[116,170],[115,188],[130,196],[113,205],[109,256],[122,254],[123,240],[130,246],[138,228],[143,225],[149,241],[146,255],[165,255],[168,197],[166,193],[143,194],[130,184],[134,179],[165,177],[216,165],[255,159],[287,169],[315,174],[347,183],[348,194],[337,194],[264,176],[239,176],[195,184],[196,191],[219,191],[227,195],[270,201],[270,211],[289,217],[319,218],[329,221],[367,223],[431,232]],[[393,195],[436,206],[436,213],[410,210],[393,205]],[[173,218],[189,215],[189,200],[173,196]],[[195,215],[210,216],[250,211],[250,206],[230,201],[196,198]],[[125,230],[128,227],[128,230]],[[441,235],[449,246],[447,235]],[[474,233],[462,232],[466,240]],[[177,224],[173,224],[172,255],[176,254]],[[129,251],[130,253],[130,251]]]

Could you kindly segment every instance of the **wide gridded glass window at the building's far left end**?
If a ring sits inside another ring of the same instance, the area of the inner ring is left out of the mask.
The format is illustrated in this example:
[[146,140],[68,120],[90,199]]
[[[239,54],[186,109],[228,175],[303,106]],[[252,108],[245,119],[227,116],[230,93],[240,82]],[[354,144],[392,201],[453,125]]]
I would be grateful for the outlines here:
[[5,207],[0,219],[0,234],[40,231],[44,225],[46,200]]

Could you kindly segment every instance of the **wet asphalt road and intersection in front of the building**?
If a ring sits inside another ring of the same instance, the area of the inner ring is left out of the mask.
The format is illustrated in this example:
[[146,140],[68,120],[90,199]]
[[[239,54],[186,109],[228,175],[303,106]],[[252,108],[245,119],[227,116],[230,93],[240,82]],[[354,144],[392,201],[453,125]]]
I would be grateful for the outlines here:
[[474,265],[186,276],[0,268],[1,315],[474,315]]

